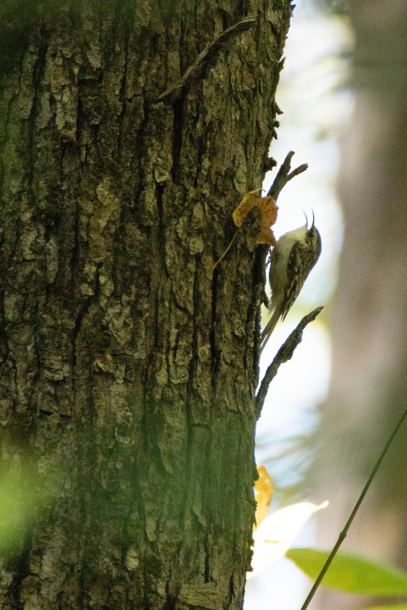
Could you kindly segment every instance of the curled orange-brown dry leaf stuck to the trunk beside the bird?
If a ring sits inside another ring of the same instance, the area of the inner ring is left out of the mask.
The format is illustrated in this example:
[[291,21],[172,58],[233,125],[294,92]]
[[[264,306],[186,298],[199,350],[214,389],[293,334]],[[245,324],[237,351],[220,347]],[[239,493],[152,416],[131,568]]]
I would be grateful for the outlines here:
[[261,196],[261,188],[255,188],[253,191],[250,191],[243,196],[239,206],[237,206],[236,210],[232,213],[234,223],[236,226],[241,227],[243,221],[254,206],[257,206],[261,213],[261,230],[256,243],[275,246],[276,240],[270,227],[276,221],[278,207],[272,196]]

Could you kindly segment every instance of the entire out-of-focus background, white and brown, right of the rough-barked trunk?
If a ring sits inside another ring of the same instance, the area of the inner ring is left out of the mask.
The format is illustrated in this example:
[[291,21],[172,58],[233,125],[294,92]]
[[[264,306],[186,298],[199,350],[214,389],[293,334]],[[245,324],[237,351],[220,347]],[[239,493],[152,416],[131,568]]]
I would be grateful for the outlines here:
[[[328,549],[407,401],[407,1],[298,2],[286,55],[272,155],[294,149],[309,170],[282,193],[277,233],[312,207],[323,256],[262,369],[302,314],[326,307],[273,382],[257,460],[276,485],[272,509],[330,501],[298,540]],[[403,428],[344,544],[404,570],[406,442]],[[300,608],[311,586],[284,559],[260,578],[248,583],[247,610],[270,591],[275,607]],[[320,589],[310,607],[371,605]]]

